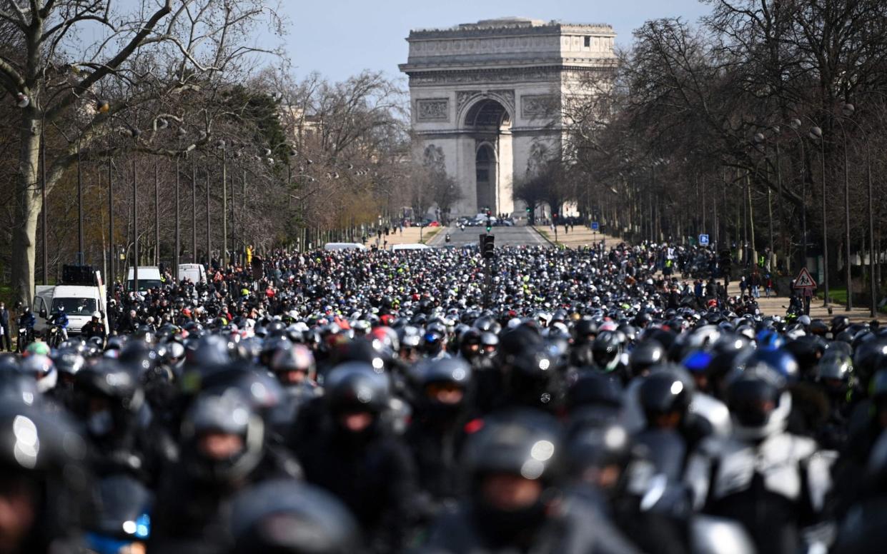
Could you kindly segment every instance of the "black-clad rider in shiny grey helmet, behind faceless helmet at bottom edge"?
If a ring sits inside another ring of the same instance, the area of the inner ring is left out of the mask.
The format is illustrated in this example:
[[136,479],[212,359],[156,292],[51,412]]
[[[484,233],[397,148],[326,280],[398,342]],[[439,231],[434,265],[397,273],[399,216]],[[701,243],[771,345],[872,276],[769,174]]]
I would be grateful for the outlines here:
[[374,552],[403,547],[422,517],[415,464],[389,425],[391,385],[371,363],[329,371],[325,394],[303,410],[289,442],[305,478],[349,506]]

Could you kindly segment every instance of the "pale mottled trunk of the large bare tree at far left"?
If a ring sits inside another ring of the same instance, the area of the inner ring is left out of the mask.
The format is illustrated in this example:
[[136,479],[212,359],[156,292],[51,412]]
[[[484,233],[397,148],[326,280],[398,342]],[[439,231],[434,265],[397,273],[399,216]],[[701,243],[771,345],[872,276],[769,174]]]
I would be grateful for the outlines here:
[[25,110],[20,123],[19,179],[15,191],[15,221],[19,224],[12,228],[12,298],[28,306],[34,297],[37,219],[43,207],[40,128],[41,121],[35,118],[35,111]]

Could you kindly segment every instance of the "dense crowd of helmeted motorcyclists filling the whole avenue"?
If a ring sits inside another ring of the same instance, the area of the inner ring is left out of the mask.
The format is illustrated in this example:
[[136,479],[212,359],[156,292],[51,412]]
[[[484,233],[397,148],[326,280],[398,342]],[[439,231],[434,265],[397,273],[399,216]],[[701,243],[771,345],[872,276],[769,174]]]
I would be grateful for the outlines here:
[[281,254],[0,357],[0,553],[887,548],[877,324],[497,256]]

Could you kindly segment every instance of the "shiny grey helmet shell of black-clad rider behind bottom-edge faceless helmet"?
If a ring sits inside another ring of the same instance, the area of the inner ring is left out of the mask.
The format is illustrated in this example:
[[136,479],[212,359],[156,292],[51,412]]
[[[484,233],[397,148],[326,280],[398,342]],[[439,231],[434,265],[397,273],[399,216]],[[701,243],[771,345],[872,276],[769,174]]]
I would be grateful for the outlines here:
[[379,414],[389,406],[390,388],[388,376],[366,362],[341,363],[324,379],[324,397],[334,413]]

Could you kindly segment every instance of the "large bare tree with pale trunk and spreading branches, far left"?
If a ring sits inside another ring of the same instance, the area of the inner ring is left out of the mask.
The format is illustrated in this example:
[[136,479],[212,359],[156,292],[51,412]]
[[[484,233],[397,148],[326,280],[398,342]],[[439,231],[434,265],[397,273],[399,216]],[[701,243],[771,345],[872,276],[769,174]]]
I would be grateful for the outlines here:
[[[34,292],[41,152],[49,192],[78,153],[175,155],[208,144],[218,115],[208,106],[219,85],[263,52],[245,40],[258,20],[282,31],[263,0],[143,0],[131,12],[110,0],[0,0],[11,39],[0,50],[0,86],[20,107],[11,260],[17,298],[29,302]],[[98,38],[83,44],[84,35]]]

